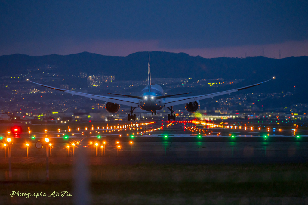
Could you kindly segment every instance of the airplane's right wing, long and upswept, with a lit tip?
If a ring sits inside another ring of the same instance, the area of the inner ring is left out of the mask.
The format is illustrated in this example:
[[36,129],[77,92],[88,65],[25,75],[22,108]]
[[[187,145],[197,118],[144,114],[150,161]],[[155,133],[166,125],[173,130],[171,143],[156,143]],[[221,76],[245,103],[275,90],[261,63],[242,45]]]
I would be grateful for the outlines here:
[[[272,79],[270,79],[270,80],[272,80]],[[266,80],[264,82],[249,85],[249,86],[242,87],[242,88],[236,88],[236,89],[233,89],[233,90],[227,90],[227,91],[222,91],[222,92],[215,92],[215,93],[210,93],[210,94],[206,94],[206,95],[166,98],[165,99],[165,107],[171,107],[171,106],[174,106],[174,105],[190,103],[190,102],[194,102],[194,101],[197,101],[197,100],[203,100],[203,99],[206,99],[206,98],[212,98],[213,99],[213,97],[215,97],[215,96],[220,96],[220,95],[225,95],[225,94],[231,95],[231,92],[237,92],[239,90],[244,90],[244,89],[251,88],[251,87],[254,87],[254,86],[257,86],[257,85],[261,85],[262,83],[265,83],[265,82],[270,81],[270,80]]]

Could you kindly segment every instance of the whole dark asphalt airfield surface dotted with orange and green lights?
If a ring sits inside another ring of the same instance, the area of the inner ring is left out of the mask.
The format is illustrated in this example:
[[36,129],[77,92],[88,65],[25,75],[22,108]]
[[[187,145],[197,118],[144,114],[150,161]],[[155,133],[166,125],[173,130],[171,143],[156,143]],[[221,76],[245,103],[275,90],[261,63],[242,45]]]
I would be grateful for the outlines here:
[[[131,127],[131,130],[114,129],[112,131],[89,128],[88,130],[37,132],[31,135],[24,133],[18,138],[11,137],[12,162],[46,163],[45,137],[48,137],[49,143],[52,144],[49,162],[55,164],[73,163],[80,147],[86,147],[88,161],[94,165],[151,162],[158,164],[230,164],[308,161],[306,130],[297,130],[295,133],[291,129],[280,131],[234,130],[203,128],[192,124],[184,127],[181,123],[173,123],[167,127],[168,124],[169,122],[164,123],[164,126],[161,123],[139,125],[138,128],[137,126]],[[5,158],[4,154],[5,140],[6,137],[2,139],[2,142],[0,141],[0,163],[6,164],[8,158]],[[35,148],[37,141],[43,142],[43,148]],[[26,143],[29,144],[29,158],[27,158]],[[72,143],[75,143],[75,146]],[[98,146],[95,146],[95,143],[98,143]],[[48,150],[50,150],[49,146]],[[103,152],[105,154],[102,154]]]

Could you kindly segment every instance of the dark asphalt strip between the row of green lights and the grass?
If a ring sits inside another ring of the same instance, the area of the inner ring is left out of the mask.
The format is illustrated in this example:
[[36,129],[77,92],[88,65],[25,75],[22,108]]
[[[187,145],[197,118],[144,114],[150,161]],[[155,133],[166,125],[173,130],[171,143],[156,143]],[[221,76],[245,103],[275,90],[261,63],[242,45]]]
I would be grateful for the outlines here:
[[[89,162],[92,165],[103,164],[230,164],[230,163],[290,163],[308,161],[308,142],[129,142],[108,141],[105,150],[95,146],[86,146]],[[120,156],[119,149],[120,146]],[[78,146],[65,149],[65,145],[52,148],[51,164],[71,164]],[[105,155],[103,155],[105,151]],[[1,153],[3,155],[3,152]],[[2,163],[7,158],[2,157]],[[12,148],[13,163],[45,163],[46,149],[29,150],[26,158],[25,149]]]

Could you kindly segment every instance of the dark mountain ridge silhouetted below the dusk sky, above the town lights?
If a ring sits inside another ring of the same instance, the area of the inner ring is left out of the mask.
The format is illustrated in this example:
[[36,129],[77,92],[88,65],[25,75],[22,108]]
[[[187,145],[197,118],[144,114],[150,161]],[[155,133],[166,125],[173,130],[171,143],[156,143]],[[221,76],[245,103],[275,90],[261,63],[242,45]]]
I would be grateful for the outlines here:
[[[270,59],[262,56],[240,58],[212,58],[189,56],[185,53],[150,52],[152,77],[192,77],[198,79],[246,79],[243,85],[276,80],[258,88],[260,91],[293,90],[307,95],[308,57]],[[104,56],[88,52],[72,55],[28,56],[21,54],[0,56],[0,76],[26,73],[26,69],[44,64],[57,65],[58,73],[78,75],[105,72],[116,80],[145,80],[148,75],[148,54],[137,52],[126,57]],[[238,84],[236,87],[239,86]],[[251,91],[253,92],[253,88]]]

